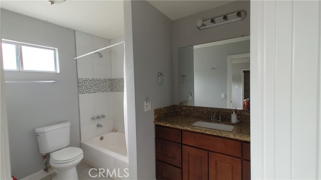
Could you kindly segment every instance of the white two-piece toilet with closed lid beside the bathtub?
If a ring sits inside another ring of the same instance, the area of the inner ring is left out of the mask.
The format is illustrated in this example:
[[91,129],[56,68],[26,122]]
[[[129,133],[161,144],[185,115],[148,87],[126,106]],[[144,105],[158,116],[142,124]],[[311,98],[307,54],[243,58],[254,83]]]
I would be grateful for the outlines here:
[[39,151],[50,153],[50,165],[57,175],[53,179],[78,179],[76,165],[84,157],[78,147],[67,147],[70,143],[70,122],[62,122],[35,128]]

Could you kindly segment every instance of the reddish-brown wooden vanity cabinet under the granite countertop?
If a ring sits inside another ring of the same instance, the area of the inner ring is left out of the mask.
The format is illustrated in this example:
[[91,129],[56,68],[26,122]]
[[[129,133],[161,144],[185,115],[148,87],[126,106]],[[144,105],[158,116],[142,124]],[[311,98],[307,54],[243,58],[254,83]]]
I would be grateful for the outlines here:
[[156,179],[250,179],[250,143],[155,126]]

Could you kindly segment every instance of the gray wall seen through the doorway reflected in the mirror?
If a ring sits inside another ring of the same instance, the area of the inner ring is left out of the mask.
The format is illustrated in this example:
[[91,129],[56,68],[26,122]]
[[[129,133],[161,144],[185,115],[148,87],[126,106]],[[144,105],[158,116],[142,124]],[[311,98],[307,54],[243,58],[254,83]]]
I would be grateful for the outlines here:
[[250,62],[232,63],[232,108],[243,108],[243,69],[250,69]]

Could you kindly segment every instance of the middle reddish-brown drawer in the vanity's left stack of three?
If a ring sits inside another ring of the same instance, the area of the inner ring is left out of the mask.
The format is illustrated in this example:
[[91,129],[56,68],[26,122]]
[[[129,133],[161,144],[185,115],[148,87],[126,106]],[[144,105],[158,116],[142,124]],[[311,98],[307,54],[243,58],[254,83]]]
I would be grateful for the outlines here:
[[156,159],[182,167],[182,145],[156,138]]

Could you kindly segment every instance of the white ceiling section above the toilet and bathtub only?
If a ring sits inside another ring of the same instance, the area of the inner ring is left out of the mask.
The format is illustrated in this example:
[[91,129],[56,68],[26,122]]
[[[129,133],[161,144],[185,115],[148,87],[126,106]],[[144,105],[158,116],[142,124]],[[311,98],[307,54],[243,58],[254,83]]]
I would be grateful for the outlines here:
[[107,39],[124,35],[122,0],[1,0],[1,8]]

